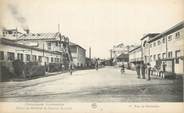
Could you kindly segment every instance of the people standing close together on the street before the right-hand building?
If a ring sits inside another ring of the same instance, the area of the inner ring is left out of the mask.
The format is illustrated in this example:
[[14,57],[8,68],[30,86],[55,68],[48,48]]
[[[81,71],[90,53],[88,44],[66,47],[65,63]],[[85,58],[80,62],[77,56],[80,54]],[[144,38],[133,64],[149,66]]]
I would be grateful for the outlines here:
[[[150,63],[137,63],[136,64],[137,78],[151,80],[151,65]],[[147,76],[147,77],[146,77]]]

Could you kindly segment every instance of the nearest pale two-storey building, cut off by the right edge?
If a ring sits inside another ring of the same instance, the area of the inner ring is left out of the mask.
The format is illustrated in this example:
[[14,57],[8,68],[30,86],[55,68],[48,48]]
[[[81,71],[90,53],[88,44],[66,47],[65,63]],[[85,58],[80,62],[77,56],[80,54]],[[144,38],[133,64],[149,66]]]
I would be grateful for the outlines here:
[[166,71],[184,74],[184,21],[148,41],[152,66],[165,61]]

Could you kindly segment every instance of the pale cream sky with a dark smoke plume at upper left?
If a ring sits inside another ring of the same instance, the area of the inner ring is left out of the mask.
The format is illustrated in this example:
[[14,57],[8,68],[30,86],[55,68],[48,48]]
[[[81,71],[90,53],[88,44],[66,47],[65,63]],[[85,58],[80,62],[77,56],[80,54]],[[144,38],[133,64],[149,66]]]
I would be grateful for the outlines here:
[[183,0],[1,0],[1,26],[32,33],[60,32],[92,57],[109,58],[113,45],[140,44],[184,19]]

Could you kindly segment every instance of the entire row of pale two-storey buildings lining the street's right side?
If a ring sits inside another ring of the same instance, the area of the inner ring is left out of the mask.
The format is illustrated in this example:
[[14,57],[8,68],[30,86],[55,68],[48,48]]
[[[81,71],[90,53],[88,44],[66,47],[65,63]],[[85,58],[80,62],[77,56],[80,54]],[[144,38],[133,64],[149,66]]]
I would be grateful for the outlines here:
[[[166,64],[165,71],[184,74],[184,21],[162,33],[149,33],[141,38],[141,46],[129,52],[129,62]],[[163,68],[163,67],[161,67]]]

